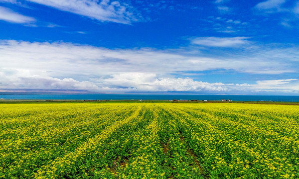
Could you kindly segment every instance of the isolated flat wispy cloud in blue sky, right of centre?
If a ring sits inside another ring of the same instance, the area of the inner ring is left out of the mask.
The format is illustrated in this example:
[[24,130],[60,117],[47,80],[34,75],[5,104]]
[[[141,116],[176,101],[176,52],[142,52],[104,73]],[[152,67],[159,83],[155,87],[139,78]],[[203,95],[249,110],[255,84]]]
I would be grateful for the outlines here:
[[197,37],[191,40],[192,44],[211,47],[238,47],[248,44],[250,37]]

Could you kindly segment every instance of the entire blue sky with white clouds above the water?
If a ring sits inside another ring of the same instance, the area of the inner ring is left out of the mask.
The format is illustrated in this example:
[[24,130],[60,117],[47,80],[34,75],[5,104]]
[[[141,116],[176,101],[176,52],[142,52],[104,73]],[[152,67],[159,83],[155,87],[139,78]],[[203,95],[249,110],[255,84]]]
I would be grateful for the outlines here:
[[299,0],[0,0],[0,92],[299,94]]

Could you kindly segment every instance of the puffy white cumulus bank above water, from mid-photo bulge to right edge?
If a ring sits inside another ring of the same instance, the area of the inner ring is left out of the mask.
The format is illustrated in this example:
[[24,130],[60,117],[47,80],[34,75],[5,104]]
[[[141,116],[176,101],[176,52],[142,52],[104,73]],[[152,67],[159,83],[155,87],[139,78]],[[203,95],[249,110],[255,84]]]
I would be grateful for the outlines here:
[[156,74],[147,73],[122,73],[113,75],[102,83],[113,85],[112,88],[109,88],[111,91],[193,91],[233,94],[248,92],[299,93],[298,79],[265,80],[250,85],[206,83],[194,81],[191,78],[158,78]]

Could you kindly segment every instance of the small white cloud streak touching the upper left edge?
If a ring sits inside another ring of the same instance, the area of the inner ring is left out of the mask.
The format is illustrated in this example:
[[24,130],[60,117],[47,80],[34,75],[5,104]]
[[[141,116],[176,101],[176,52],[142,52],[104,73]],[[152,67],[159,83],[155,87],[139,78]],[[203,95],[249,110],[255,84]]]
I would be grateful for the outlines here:
[[0,6],[0,20],[4,20],[11,23],[32,23],[35,22],[33,17],[28,17],[12,11],[9,8]]

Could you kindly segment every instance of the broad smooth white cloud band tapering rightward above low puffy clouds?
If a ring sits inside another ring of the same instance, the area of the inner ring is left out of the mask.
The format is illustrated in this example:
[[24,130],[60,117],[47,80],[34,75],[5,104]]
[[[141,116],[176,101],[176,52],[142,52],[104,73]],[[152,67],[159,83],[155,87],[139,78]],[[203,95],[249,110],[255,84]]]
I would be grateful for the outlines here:
[[[176,49],[174,49],[177,51]],[[109,74],[117,72],[171,73],[219,68],[214,58],[172,52],[172,50],[97,48],[70,43],[2,41],[0,66],[44,69],[59,74]],[[58,65],[59,64],[59,65]]]

